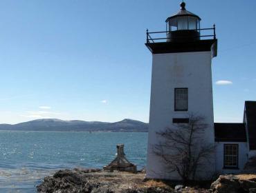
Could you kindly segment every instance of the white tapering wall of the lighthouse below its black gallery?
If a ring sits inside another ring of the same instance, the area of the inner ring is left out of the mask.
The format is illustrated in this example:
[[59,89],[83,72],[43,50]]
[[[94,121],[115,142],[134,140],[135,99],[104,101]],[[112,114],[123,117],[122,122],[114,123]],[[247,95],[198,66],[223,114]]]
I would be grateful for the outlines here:
[[[176,172],[167,170],[167,165],[152,149],[163,141],[156,132],[173,128],[173,118],[188,118],[188,113],[205,116],[208,128],[202,143],[207,141],[214,145],[211,57],[211,52],[153,54],[147,178],[179,179]],[[174,111],[174,88],[188,88],[188,112]],[[215,165],[214,155],[211,161],[211,165]],[[200,178],[211,177],[214,172],[214,166],[205,167]]]

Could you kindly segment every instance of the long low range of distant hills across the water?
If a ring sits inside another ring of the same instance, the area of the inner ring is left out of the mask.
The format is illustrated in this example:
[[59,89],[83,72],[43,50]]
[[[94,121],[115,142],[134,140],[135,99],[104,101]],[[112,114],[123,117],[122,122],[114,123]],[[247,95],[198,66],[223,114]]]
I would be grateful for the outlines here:
[[63,121],[60,119],[37,119],[15,125],[0,124],[0,130],[22,131],[104,131],[104,132],[147,132],[148,123],[124,119],[115,123],[100,121]]

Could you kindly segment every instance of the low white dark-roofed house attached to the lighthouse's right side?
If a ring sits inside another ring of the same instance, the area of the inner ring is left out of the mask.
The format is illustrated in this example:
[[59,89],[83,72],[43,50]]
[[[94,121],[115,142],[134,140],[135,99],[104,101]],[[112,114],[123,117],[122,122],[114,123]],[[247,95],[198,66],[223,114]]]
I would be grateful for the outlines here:
[[214,135],[217,172],[242,172],[256,156],[256,101],[245,102],[244,123],[214,123]]

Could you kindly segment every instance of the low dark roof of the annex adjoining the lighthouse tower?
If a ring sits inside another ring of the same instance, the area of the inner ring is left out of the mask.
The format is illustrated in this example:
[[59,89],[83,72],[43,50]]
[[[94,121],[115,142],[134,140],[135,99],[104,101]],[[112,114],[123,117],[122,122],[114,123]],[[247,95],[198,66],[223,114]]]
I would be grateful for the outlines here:
[[244,123],[214,123],[215,141],[246,142]]

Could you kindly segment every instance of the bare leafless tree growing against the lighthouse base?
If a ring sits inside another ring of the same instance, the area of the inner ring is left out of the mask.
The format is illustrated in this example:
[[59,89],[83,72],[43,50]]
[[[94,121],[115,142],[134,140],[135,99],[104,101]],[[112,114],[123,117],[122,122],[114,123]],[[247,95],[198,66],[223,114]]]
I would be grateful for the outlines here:
[[194,180],[198,168],[210,161],[214,145],[203,141],[208,124],[203,116],[190,114],[189,123],[176,124],[174,128],[156,132],[160,137],[153,153],[161,157],[168,172],[177,172],[183,181]]

